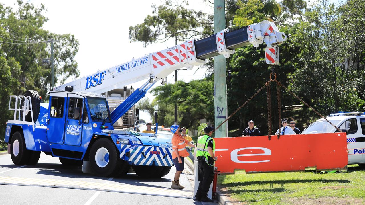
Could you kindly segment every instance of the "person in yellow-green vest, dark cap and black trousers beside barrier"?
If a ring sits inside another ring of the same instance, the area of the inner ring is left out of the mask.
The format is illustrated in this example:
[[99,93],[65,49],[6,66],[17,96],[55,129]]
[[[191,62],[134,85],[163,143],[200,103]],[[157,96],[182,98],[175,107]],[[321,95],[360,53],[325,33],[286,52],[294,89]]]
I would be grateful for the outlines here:
[[211,138],[213,127],[205,127],[205,135],[200,136],[196,143],[196,156],[198,159],[198,180],[199,187],[195,195],[197,201],[213,202],[208,198],[210,184],[214,178],[214,162],[217,157],[214,156],[215,142]]

